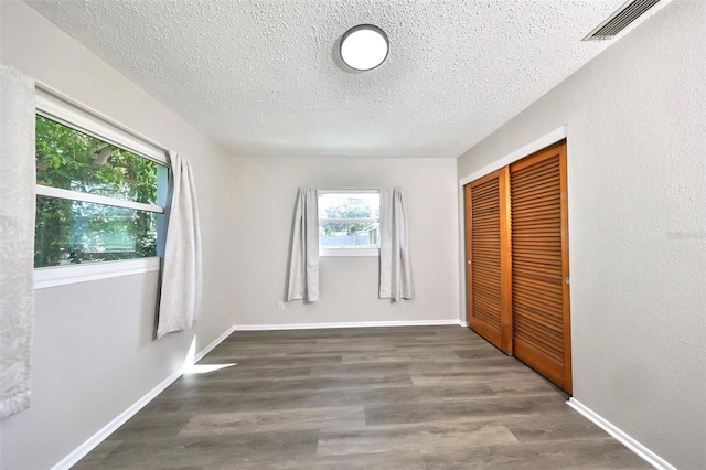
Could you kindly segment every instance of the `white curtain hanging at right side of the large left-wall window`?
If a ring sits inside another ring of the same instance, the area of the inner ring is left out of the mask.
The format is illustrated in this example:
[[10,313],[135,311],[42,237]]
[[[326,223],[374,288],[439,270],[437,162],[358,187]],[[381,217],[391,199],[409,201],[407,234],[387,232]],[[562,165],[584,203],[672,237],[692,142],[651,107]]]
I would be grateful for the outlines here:
[[157,338],[191,328],[201,318],[203,273],[201,229],[193,172],[188,160],[169,152],[171,205],[167,211],[167,245]]

